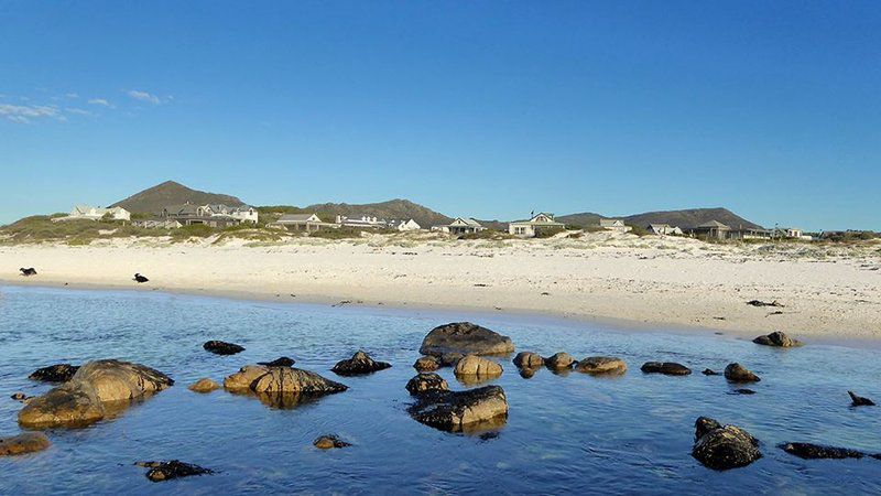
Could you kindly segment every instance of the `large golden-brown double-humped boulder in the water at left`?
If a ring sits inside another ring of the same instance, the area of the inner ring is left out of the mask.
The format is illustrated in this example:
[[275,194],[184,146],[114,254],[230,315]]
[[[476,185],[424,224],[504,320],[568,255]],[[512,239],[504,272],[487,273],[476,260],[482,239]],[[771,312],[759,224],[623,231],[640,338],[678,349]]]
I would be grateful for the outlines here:
[[130,400],[168,388],[159,370],[120,360],[89,362],[73,378],[33,398],[19,412],[26,428],[83,427],[123,410]]

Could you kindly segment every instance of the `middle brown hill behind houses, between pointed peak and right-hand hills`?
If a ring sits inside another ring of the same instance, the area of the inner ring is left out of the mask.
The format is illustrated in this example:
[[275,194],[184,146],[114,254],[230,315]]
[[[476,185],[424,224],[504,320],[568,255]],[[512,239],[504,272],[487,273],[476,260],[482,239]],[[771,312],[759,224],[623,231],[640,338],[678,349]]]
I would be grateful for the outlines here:
[[322,220],[334,222],[337,215],[360,217],[362,215],[384,219],[412,218],[420,226],[427,229],[438,224],[448,224],[453,219],[431,208],[413,203],[409,200],[390,200],[381,203],[366,203],[351,205],[348,203],[322,203],[306,207],[295,206],[263,206],[261,213],[311,214],[316,213]]

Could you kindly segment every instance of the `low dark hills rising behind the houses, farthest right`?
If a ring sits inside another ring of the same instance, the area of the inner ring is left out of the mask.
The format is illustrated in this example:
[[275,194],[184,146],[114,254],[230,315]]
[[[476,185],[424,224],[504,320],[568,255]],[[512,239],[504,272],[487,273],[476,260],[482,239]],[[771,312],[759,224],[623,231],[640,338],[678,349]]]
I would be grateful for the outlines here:
[[[556,219],[570,224],[574,226],[595,226],[599,224],[599,219],[609,218],[607,216],[585,212],[581,214],[562,215]],[[624,223],[630,226],[646,227],[649,224],[670,224],[671,226],[678,226],[683,229],[695,227],[710,220],[718,220],[729,227],[747,227],[757,228],[761,227],[755,223],[747,220],[746,218],[735,214],[728,208],[689,208],[684,211],[666,211],[666,212],[646,212],[643,214],[633,214],[624,217],[616,217],[624,219]]]

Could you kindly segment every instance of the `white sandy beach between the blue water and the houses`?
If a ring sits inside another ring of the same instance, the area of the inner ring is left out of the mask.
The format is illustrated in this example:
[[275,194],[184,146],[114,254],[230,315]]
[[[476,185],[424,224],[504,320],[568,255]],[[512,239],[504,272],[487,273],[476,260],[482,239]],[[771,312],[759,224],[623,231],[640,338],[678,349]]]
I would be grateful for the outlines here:
[[[90,246],[1,246],[0,261],[0,281],[17,284],[529,312],[743,334],[779,330],[797,336],[881,337],[881,244],[724,246],[608,234],[220,245],[112,239]],[[21,277],[19,267],[35,267],[39,276]],[[137,284],[134,272],[151,281]],[[784,306],[748,305],[753,299]]]

